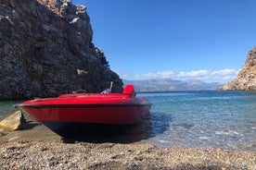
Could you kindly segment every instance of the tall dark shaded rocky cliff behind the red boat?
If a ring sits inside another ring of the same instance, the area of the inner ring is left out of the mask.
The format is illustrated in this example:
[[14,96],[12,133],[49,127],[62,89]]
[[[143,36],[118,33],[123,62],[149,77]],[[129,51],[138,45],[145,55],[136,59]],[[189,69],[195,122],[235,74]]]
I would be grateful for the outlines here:
[[99,92],[110,81],[114,92],[122,91],[122,79],[92,39],[85,6],[70,0],[1,0],[0,100]]

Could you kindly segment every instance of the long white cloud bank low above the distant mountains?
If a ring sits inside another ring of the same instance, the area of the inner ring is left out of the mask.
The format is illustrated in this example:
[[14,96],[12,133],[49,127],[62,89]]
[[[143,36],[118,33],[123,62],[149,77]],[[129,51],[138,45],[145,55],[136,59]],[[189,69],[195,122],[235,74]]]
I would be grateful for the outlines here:
[[137,74],[136,79],[200,79],[204,81],[219,81],[224,82],[235,79],[237,70],[225,68],[222,70],[193,70],[193,71],[180,71],[173,70],[163,71],[158,73]]

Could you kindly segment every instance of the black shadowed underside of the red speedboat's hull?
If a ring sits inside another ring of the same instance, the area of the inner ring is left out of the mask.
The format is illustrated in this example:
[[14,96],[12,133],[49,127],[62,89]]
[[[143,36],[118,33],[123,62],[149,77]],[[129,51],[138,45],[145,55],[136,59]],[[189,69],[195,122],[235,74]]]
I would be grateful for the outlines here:
[[44,121],[45,127],[57,133],[63,142],[131,143],[150,137],[150,116],[132,125],[84,124]]

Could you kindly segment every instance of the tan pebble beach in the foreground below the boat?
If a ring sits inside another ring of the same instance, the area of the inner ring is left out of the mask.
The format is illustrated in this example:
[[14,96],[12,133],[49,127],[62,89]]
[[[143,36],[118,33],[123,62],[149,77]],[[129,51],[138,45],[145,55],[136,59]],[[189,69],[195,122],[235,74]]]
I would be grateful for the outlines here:
[[3,169],[255,169],[256,152],[122,143],[0,141]]

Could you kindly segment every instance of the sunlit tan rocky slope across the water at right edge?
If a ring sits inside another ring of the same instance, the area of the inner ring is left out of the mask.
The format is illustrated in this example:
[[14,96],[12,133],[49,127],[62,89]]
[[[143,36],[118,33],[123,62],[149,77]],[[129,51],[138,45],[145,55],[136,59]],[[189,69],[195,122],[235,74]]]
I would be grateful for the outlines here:
[[237,78],[227,82],[221,91],[256,91],[256,47],[249,52]]

